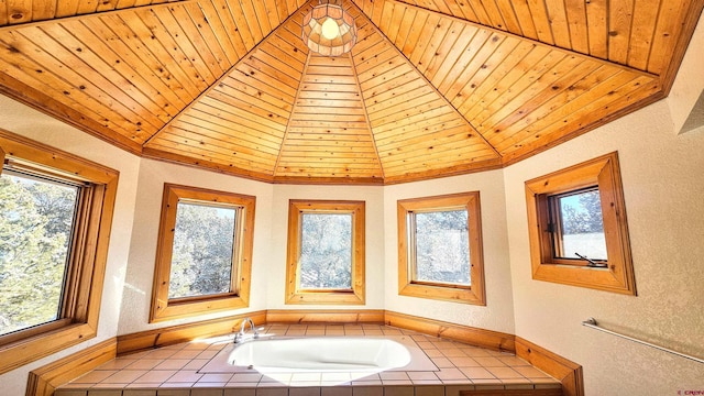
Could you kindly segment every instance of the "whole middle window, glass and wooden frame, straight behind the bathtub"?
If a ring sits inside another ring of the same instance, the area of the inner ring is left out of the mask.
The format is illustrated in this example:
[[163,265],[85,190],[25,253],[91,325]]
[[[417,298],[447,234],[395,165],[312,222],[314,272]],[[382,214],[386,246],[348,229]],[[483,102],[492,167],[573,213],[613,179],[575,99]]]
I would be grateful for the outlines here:
[[290,200],[286,304],[364,304],[364,202]]

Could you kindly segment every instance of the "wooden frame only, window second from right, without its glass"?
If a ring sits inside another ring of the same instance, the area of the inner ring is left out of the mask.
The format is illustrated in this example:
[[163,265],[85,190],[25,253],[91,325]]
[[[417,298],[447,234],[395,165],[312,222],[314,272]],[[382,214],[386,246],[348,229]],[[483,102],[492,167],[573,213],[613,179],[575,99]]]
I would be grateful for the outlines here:
[[[413,257],[407,219],[414,211],[440,211],[447,208],[464,208],[468,212],[471,286],[419,283],[411,278]],[[397,201],[398,219],[398,294],[470,305],[486,305],[484,284],[484,253],[482,248],[482,213],[480,193],[460,193]]]

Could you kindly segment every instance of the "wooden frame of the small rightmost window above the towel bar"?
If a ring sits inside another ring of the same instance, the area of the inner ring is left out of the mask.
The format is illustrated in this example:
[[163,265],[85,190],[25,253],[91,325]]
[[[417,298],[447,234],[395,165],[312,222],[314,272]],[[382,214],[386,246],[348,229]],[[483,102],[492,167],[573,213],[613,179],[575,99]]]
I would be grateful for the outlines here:
[[[554,258],[552,251],[548,198],[592,186],[598,187],[602,201],[608,256],[604,268],[590,266],[586,260]],[[526,182],[526,205],[534,279],[636,295],[618,153]]]

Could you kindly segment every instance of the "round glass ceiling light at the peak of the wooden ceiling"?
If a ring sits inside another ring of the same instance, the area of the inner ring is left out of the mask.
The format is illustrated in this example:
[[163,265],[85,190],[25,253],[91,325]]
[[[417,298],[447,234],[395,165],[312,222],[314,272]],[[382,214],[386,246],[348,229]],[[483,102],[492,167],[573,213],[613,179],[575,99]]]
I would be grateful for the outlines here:
[[341,2],[326,0],[304,16],[302,40],[320,55],[345,54],[356,43],[354,18],[344,11]]

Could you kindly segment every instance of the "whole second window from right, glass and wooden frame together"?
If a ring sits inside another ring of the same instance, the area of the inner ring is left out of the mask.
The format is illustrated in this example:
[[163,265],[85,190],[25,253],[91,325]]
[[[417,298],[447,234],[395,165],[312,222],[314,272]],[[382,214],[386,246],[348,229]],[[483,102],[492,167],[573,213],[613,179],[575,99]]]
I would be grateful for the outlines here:
[[398,294],[486,305],[479,191],[398,201]]

